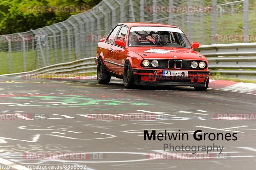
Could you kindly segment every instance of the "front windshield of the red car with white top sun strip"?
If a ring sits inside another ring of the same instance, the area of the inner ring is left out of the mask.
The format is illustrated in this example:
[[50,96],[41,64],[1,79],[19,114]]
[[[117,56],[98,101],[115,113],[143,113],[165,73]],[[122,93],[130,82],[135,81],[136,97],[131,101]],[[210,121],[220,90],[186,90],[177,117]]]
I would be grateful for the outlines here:
[[129,47],[163,46],[191,48],[180,28],[158,26],[134,26],[129,33]]

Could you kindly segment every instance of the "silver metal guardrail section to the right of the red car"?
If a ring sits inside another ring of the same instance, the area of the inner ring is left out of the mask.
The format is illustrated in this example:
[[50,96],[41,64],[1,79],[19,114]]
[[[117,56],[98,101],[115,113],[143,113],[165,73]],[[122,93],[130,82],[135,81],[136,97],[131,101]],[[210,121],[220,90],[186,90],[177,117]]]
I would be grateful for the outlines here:
[[207,57],[211,73],[233,78],[256,79],[256,56],[252,56],[256,55],[256,43],[203,45],[196,48],[196,51]]

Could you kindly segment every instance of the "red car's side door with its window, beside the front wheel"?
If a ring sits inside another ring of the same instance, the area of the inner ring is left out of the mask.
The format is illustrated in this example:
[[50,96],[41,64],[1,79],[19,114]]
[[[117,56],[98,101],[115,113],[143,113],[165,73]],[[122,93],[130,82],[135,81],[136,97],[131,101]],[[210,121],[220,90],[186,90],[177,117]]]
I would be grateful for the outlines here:
[[[117,34],[116,40],[120,39],[120,40],[123,40],[125,43],[127,31],[128,31],[128,27],[122,26],[119,33]],[[124,49],[125,49],[124,47],[113,44],[109,53],[110,70],[121,75],[123,74],[124,61],[126,59],[126,56],[124,56]]]

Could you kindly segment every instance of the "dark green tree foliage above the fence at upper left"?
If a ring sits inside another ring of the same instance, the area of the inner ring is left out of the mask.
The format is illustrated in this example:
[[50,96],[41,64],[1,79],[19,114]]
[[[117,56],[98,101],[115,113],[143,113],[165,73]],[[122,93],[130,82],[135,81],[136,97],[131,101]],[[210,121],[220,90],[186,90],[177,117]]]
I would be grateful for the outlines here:
[[86,6],[90,9],[101,0],[2,0],[0,1],[0,35],[26,32],[52,25],[77,13],[30,13],[26,6]]

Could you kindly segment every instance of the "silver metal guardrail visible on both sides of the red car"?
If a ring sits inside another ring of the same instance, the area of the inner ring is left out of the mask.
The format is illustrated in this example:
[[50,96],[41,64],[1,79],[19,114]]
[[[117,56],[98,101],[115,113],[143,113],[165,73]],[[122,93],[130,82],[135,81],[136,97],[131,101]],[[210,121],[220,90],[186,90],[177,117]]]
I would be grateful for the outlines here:
[[[240,56],[256,55],[256,43],[203,45],[196,48],[196,51],[207,57],[209,69],[212,73],[220,73],[227,77],[256,79],[256,56]],[[96,68],[93,57],[90,57],[68,63],[54,64],[33,71],[4,74],[2,76],[21,76],[26,73],[89,73],[96,72]]]

